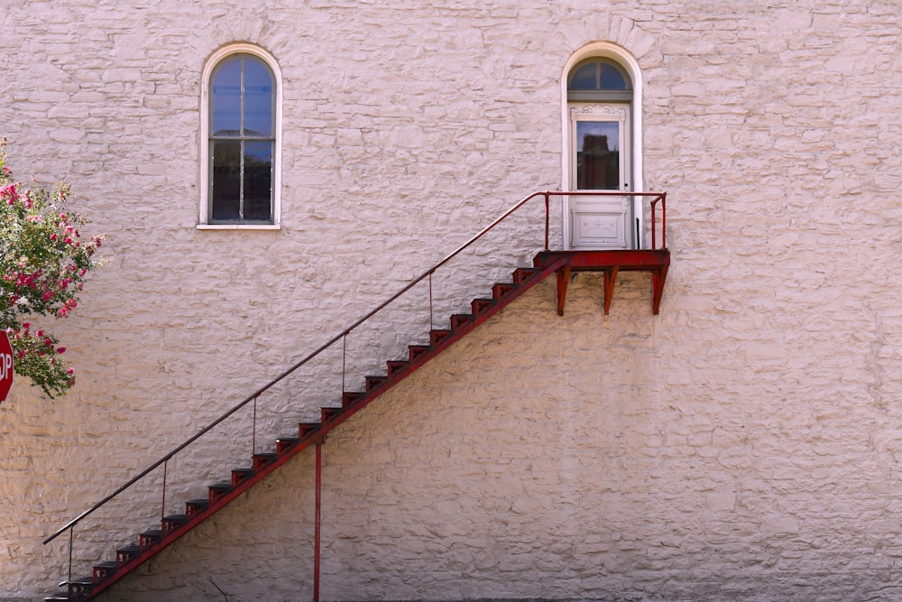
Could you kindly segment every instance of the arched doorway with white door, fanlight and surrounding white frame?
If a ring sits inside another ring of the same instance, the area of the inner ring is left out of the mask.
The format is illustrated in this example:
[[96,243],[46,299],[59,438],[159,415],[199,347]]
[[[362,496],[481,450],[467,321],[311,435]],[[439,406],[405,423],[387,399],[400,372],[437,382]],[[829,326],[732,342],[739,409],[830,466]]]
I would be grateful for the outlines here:
[[[561,79],[565,190],[641,190],[641,78],[619,46],[589,44]],[[630,195],[574,196],[565,202],[566,248],[639,248],[641,211]]]

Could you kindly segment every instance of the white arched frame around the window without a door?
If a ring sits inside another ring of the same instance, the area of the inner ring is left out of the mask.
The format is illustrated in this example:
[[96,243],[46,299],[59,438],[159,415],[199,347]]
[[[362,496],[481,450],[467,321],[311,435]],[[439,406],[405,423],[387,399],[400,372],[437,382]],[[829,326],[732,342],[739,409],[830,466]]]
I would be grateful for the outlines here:
[[[213,70],[226,58],[234,54],[250,54],[262,60],[272,70],[275,79],[275,150],[272,161],[272,224],[210,224],[210,83]],[[198,230],[278,230],[281,228],[281,127],[282,127],[282,85],[281,69],[272,54],[258,46],[247,43],[229,44],[214,52],[204,65],[200,88],[200,210]]]

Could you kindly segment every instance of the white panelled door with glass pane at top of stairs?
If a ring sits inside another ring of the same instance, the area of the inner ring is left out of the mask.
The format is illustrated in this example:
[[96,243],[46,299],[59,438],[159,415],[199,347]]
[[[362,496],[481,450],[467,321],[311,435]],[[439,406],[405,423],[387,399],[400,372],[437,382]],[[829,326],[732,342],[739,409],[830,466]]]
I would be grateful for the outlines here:
[[[571,105],[570,190],[631,190],[629,145],[629,104]],[[634,248],[632,207],[629,196],[566,197],[567,248]]]

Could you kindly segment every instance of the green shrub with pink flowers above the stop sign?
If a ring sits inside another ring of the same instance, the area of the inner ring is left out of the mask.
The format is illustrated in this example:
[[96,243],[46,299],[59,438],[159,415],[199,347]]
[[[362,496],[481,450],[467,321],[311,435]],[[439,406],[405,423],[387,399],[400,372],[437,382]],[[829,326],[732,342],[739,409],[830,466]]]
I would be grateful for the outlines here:
[[72,368],[60,358],[66,347],[31,321],[65,318],[78,306],[78,292],[103,236],[82,240],[90,220],[65,208],[69,187],[49,192],[23,188],[6,167],[6,139],[0,139],[0,329],[13,346],[16,374],[55,397],[75,384]]

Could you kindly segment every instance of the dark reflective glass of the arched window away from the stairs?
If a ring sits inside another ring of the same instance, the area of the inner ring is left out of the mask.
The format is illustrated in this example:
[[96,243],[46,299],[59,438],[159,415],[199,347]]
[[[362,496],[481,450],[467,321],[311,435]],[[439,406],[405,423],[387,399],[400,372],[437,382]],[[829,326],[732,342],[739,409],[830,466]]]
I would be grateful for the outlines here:
[[272,223],[272,70],[249,54],[228,57],[213,73],[210,102],[211,221]]

